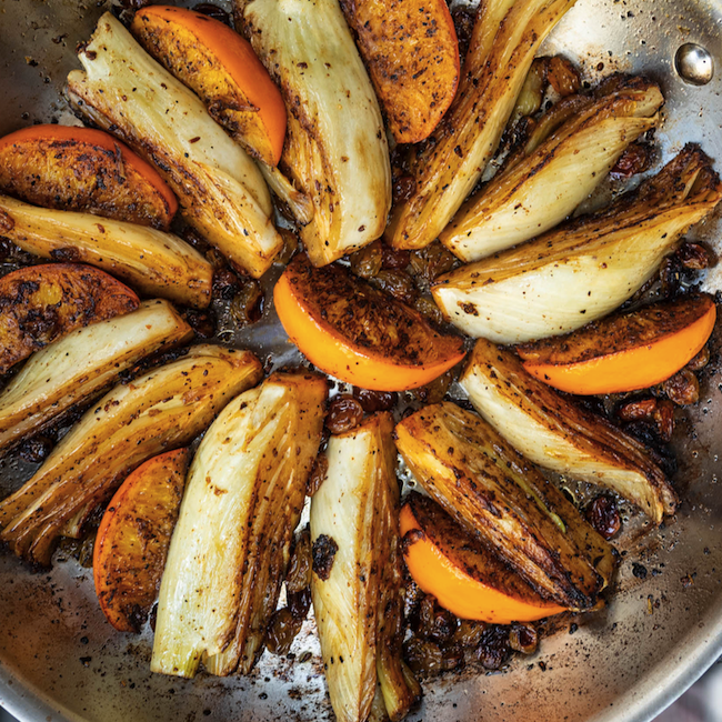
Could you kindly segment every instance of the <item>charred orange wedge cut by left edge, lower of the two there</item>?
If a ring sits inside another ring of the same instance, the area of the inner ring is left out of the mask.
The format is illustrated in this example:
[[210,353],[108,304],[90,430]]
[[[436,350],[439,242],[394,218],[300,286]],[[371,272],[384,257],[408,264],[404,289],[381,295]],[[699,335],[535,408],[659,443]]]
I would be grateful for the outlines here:
[[0,373],[80,327],[138,309],[127,285],[80,263],[42,263],[0,279]]

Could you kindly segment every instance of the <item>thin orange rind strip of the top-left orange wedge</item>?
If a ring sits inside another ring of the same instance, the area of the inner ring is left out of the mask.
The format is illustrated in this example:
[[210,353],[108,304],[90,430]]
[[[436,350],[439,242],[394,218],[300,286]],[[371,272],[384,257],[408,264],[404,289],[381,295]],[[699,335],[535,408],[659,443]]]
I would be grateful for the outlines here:
[[218,59],[258,108],[273,149],[274,163],[281,160],[285,139],[285,104],[275,83],[253,52],[251,44],[234,30],[201,12],[171,6],[149,6],[137,16],[157,16],[190,30]]

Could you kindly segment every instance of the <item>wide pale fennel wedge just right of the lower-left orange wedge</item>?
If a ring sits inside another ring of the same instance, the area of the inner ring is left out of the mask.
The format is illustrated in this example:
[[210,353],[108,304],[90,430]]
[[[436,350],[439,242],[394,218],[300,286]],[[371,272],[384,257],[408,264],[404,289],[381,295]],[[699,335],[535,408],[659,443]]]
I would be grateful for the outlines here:
[[191,465],[158,603],[151,670],[248,673],[263,651],[325,415],[312,373],[234,399]]

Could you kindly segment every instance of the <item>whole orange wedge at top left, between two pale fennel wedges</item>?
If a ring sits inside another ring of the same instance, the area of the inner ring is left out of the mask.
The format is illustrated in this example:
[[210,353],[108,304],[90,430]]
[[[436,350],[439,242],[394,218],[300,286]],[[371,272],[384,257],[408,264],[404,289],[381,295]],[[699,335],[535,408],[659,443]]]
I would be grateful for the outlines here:
[[269,166],[278,164],[285,104],[244,38],[219,20],[170,6],[139,10],[131,31],[245,150]]

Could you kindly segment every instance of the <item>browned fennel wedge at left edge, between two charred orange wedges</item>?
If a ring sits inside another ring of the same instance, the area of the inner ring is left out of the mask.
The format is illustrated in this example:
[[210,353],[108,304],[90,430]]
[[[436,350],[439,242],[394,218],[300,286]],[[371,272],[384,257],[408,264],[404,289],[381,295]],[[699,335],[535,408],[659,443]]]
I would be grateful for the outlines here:
[[0,233],[29,253],[96,265],[148,295],[205,308],[212,265],[172,233],[0,195]]

